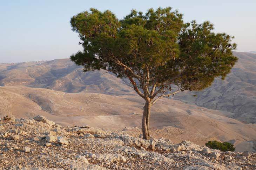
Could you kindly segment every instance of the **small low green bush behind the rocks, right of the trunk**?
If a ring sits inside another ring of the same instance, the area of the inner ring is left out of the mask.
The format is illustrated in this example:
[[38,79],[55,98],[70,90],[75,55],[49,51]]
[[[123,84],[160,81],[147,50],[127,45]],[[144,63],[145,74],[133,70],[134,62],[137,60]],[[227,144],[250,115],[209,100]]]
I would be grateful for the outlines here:
[[208,148],[211,148],[211,149],[218,149],[218,150],[221,150],[221,151],[234,151],[236,148],[234,147],[234,145],[232,145],[231,143],[228,143],[228,142],[218,142],[216,140],[214,141],[209,141],[206,143],[206,146]]

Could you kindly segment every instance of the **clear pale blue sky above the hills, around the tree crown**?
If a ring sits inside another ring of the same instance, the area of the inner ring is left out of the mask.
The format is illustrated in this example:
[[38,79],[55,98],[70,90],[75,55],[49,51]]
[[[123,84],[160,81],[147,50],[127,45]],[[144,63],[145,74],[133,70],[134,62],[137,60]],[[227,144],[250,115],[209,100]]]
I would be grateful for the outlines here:
[[91,7],[119,19],[131,9],[173,7],[184,21],[210,21],[235,36],[236,51],[256,51],[256,0],[0,0],[0,63],[69,58],[81,50],[70,18]]

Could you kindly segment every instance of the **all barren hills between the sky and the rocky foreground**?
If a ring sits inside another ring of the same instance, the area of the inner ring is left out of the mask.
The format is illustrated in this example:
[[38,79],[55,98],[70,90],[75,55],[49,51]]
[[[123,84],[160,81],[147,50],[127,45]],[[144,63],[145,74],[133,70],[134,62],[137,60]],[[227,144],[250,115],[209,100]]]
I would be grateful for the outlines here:
[[[236,151],[255,151],[256,54],[234,54],[238,63],[224,81],[156,103],[151,135],[198,145],[216,139],[234,143]],[[0,85],[2,116],[41,114],[62,126],[87,124],[141,134],[143,100],[106,71],[83,73],[69,59],[0,64]]]

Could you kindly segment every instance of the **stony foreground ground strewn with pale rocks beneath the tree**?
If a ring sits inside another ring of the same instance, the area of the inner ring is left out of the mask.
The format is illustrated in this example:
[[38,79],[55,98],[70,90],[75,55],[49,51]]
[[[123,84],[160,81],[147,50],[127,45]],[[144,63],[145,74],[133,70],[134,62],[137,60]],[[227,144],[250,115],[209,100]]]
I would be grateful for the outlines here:
[[256,153],[222,152],[164,138],[143,140],[126,132],[62,127],[43,116],[2,118],[0,169],[256,169]]

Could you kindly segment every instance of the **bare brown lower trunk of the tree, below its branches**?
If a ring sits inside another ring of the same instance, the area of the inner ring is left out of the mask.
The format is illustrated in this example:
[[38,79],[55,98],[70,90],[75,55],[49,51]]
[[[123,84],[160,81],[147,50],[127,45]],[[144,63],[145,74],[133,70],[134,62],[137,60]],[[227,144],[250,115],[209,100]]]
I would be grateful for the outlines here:
[[150,114],[151,105],[149,101],[146,101],[143,108],[142,116],[142,133],[143,139],[149,140],[149,114]]

